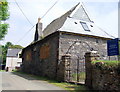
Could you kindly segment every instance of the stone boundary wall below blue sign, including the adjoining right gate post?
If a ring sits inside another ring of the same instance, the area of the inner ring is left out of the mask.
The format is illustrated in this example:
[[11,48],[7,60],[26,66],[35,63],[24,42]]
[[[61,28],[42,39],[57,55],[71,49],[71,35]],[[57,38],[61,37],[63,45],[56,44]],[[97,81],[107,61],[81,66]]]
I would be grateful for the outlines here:
[[102,64],[104,64],[103,62],[91,63],[98,59],[99,54],[97,53],[89,52],[85,54],[86,86],[100,92],[119,92],[120,65],[102,67]]

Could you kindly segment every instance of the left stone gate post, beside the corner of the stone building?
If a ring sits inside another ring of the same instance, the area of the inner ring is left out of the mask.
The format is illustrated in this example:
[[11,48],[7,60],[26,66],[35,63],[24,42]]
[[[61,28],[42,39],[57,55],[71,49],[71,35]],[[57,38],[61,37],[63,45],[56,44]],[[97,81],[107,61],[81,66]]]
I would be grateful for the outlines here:
[[70,61],[71,56],[69,54],[62,56],[62,61],[58,65],[58,81],[70,81]]

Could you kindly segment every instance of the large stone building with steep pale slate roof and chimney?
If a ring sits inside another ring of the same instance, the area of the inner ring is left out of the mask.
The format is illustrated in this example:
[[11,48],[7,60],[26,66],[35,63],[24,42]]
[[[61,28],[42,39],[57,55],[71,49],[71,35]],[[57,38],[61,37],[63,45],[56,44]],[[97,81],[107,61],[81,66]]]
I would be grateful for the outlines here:
[[[101,59],[108,59],[107,40],[112,37],[95,25],[81,3],[52,21],[43,31],[40,25],[38,22],[34,43],[23,49],[24,72],[55,79],[62,56],[66,54],[71,56],[73,74],[78,64],[78,72],[85,72],[84,55],[88,51],[97,51]],[[41,36],[44,38],[40,39]]]

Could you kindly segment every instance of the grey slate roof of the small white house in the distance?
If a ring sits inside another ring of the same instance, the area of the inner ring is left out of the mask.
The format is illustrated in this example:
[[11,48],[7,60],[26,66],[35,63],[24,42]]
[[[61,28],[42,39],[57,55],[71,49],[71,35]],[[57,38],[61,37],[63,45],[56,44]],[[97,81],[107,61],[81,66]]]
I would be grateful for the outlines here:
[[21,51],[22,49],[13,49],[13,48],[9,48],[7,51],[7,57],[18,57],[18,53]]

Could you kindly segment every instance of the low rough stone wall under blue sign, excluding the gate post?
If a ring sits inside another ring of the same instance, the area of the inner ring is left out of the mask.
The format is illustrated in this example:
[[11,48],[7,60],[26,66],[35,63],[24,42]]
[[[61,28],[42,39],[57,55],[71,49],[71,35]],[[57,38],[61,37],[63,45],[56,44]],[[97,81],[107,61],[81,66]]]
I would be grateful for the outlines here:
[[103,69],[93,65],[92,84],[96,90],[120,91],[120,66]]

